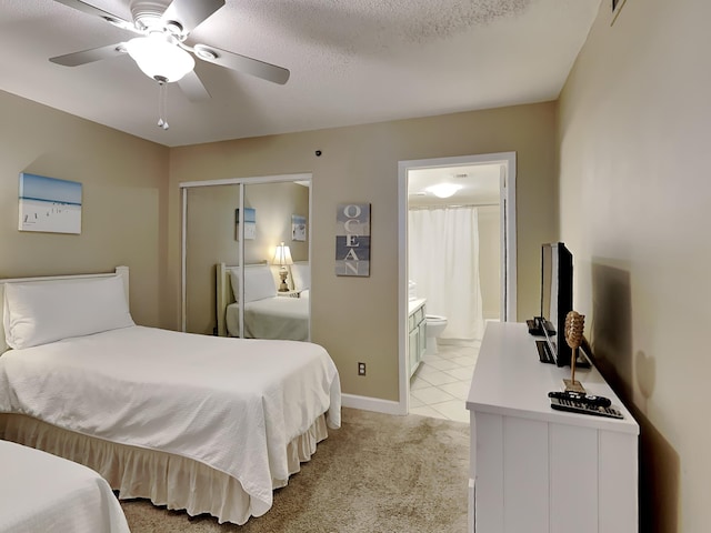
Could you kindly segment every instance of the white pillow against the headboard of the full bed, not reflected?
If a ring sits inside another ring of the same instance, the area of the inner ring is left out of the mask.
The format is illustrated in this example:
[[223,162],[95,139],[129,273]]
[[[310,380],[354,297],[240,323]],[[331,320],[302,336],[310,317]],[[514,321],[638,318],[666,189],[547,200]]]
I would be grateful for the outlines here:
[[120,275],[77,281],[8,283],[4,336],[23,349],[136,325]]

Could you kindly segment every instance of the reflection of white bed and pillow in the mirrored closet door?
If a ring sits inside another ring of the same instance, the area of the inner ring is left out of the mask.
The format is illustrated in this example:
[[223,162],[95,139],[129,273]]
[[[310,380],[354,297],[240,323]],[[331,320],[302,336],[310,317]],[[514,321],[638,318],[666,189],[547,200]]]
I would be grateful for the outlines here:
[[[289,293],[279,293],[271,266],[267,263],[244,266],[244,338],[309,340],[308,262],[290,265]],[[217,264],[218,334],[240,336],[239,269]]]

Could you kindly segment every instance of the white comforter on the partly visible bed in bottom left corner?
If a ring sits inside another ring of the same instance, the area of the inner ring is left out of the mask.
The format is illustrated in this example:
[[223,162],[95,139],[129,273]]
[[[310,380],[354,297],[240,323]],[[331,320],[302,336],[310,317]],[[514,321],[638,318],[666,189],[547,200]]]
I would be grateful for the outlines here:
[[129,533],[109,484],[93,470],[0,441],[0,532]]

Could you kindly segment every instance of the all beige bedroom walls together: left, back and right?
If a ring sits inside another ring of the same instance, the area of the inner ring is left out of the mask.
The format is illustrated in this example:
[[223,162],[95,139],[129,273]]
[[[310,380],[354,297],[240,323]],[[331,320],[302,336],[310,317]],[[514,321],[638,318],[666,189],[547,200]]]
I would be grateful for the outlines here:
[[[538,311],[540,243],[561,238],[587,335],[642,426],[642,531],[705,531],[711,3],[629,0],[607,19],[558,123],[542,103],[169,150],[0,92],[0,276],[128,264],[136,320],[178,329],[178,183],[312,172],[313,339],[344,392],[397,400],[398,161],[515,151],[519,320]],[[22,171],[83,183],[81,235],[17,230]],[[344,201],[372,203],[368,279],[333,274]]]

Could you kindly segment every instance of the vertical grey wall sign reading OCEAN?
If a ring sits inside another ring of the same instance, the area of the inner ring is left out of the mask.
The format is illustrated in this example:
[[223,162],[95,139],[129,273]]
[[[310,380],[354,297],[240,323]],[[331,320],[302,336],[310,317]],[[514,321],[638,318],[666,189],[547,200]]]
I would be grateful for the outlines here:
[[336,275],[370,275],[370,203],[338,207]]

